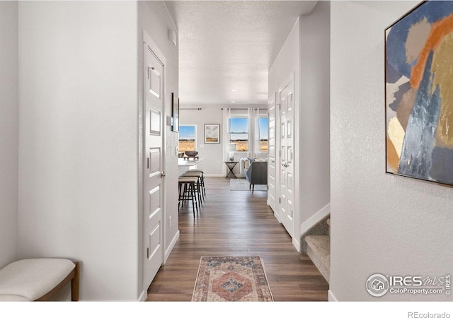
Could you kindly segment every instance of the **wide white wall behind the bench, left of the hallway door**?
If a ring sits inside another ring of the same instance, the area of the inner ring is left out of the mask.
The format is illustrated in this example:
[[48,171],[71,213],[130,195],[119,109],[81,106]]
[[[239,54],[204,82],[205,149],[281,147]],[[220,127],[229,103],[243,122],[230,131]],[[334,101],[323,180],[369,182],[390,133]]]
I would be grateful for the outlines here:
[[137,300],[137,3],[19,1],[19,256]]

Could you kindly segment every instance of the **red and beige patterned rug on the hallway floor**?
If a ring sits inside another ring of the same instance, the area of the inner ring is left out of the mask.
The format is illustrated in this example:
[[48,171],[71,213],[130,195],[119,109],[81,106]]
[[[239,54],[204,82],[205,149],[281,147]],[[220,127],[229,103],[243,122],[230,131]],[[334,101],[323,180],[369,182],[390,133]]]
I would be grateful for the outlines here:
[[272,302],[261,257],[202,257],[193,302]]

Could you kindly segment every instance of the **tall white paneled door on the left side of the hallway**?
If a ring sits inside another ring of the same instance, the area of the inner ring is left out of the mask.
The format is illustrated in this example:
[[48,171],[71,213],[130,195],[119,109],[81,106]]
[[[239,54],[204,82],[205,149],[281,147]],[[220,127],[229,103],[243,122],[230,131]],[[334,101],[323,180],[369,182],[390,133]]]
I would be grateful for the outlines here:
[[164,262],[165,59],[144,37],[144,286]]

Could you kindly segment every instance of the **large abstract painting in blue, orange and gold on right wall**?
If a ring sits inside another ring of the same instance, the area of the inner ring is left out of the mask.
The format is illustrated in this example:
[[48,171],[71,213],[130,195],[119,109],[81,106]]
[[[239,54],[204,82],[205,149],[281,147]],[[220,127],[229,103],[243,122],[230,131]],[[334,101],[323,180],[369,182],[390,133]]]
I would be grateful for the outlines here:
[[385,29],[386,173],[453,186],[453,1]]

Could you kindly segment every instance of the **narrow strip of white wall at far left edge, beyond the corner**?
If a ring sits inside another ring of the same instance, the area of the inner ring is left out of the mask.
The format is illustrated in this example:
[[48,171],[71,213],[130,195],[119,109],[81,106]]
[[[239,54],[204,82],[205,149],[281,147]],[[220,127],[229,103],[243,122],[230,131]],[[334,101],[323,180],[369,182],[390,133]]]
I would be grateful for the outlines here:
[[16,261],[18,230],[18,3],[0,1],[0,268]]

